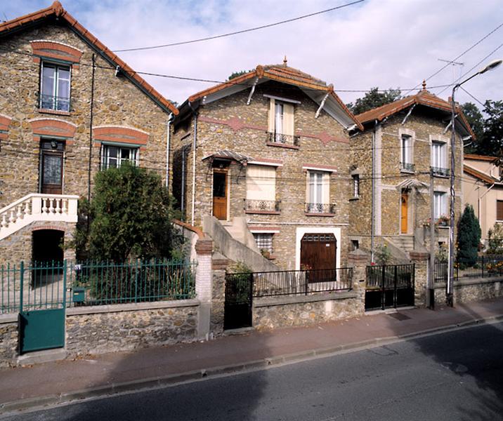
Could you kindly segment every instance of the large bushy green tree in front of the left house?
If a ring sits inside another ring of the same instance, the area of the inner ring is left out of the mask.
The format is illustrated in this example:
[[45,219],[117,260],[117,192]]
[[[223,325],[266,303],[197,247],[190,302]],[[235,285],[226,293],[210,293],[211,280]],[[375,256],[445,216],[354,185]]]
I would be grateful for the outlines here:
[[124,262],[170,258],[180,241],[172,232],[173,199],[159,175],[123,163],[100,171],[91,203],[81,200],[77,257]]

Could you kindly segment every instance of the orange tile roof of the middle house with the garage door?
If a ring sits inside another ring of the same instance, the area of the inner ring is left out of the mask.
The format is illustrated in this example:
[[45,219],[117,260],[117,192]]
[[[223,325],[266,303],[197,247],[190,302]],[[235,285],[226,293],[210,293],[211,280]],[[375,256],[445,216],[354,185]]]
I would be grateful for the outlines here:
[[355,125],[358,128],[362,129],[363,126],[360,122],[355,119],[355,116],[349,111],[348,107],[341,101],[341,98],[334,92],[334,86],[332,84],[327,85],[324,81],[311,76],[311,74],[307,74],[305,72],[301,72],[299,69],[294,69],[294,67],[289,67],[286,65],[286,60],[282,65],[258,65],[256,69],[251,72],[247,72],[242,74],[241,76],[237,76],[235,79],[231,79],[230,81],[226,81],[223,83],[219,83],[216,86],[212,86],[211,88],[207,88],[204,91],[200,91],[191,95],[188,100],[190,102],[194,102],[204,98],[204,96],[211,95],[212,93],[216,93],[218,91],[222,91],[223,89],[229,88],[230,86],[235,86],[249,79],[254,78],[265,78],[273,81],[278,81],[282,83],[289,83],[290,85],[299,86],[299,88],[307,88],[313,89],[315,91],[325,91],[329,93],[329,95],[339,104],[339,106],[351,117],[351,120],[355,122]]

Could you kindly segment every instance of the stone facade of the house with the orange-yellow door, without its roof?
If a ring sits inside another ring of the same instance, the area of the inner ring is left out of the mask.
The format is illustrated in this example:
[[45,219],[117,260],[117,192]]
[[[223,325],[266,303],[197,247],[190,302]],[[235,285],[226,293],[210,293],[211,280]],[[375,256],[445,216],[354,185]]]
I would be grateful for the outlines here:
[[[374,251],[383,239],[414,236],[414,248],[429,247],[431,217],[429,185],[433,181],[436,192],[445,193],[445,213],[450,209],[450,178],[430,175],[431,142],[445,142],[446,162],[450,168],[450,131],[445,131],[448,121],[431,112],[416,107],[407,121],[403,119],[408,109],[389,116],[384,123],[374,127],[366,125],[365,131],[351,138],[352,171],[360,176],[360,194],[350,203],[350,240],[358,241],[365,250],[371,249],[372,189],[374,189]],[[412,138],[411,170],[400,169],[401,137]],[[374,171],[372,171],[372,143],[374,143]],[[459,218],[462,204],[462,155],[463,143],[456,137],[455,154],[455,218]],[[412,180],[417,187],[400,188],[400,183]],[[421,184],[419,184],[421,183]],[[402,232],[401,196],[407,194],[407,229]],[[398,239],[397,239],[398,240]],[[436,242],[448,242],[448,229],[436,228]],[[400,247],[401,243],[397,245]]]

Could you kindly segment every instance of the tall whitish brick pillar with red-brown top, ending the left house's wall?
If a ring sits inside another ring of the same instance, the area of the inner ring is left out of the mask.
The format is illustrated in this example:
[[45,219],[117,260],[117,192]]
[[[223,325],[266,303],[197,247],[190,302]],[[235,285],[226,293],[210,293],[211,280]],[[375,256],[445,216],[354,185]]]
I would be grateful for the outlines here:
[[197,254],[197,269],[195,274],[195,293],[200,300],[197,314],[197,338],[209,339],[209,322],[211,316],[211,253],[213,241],[211,239],[198,239],[195,243]]

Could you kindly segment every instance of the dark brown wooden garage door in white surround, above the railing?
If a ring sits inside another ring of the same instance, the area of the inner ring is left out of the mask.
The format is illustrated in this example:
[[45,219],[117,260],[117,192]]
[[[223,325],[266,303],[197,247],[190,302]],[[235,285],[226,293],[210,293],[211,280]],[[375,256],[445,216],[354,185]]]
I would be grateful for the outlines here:
[[337,240],[334,234],[304,234],[301,240],[301,269],[337,267]]

